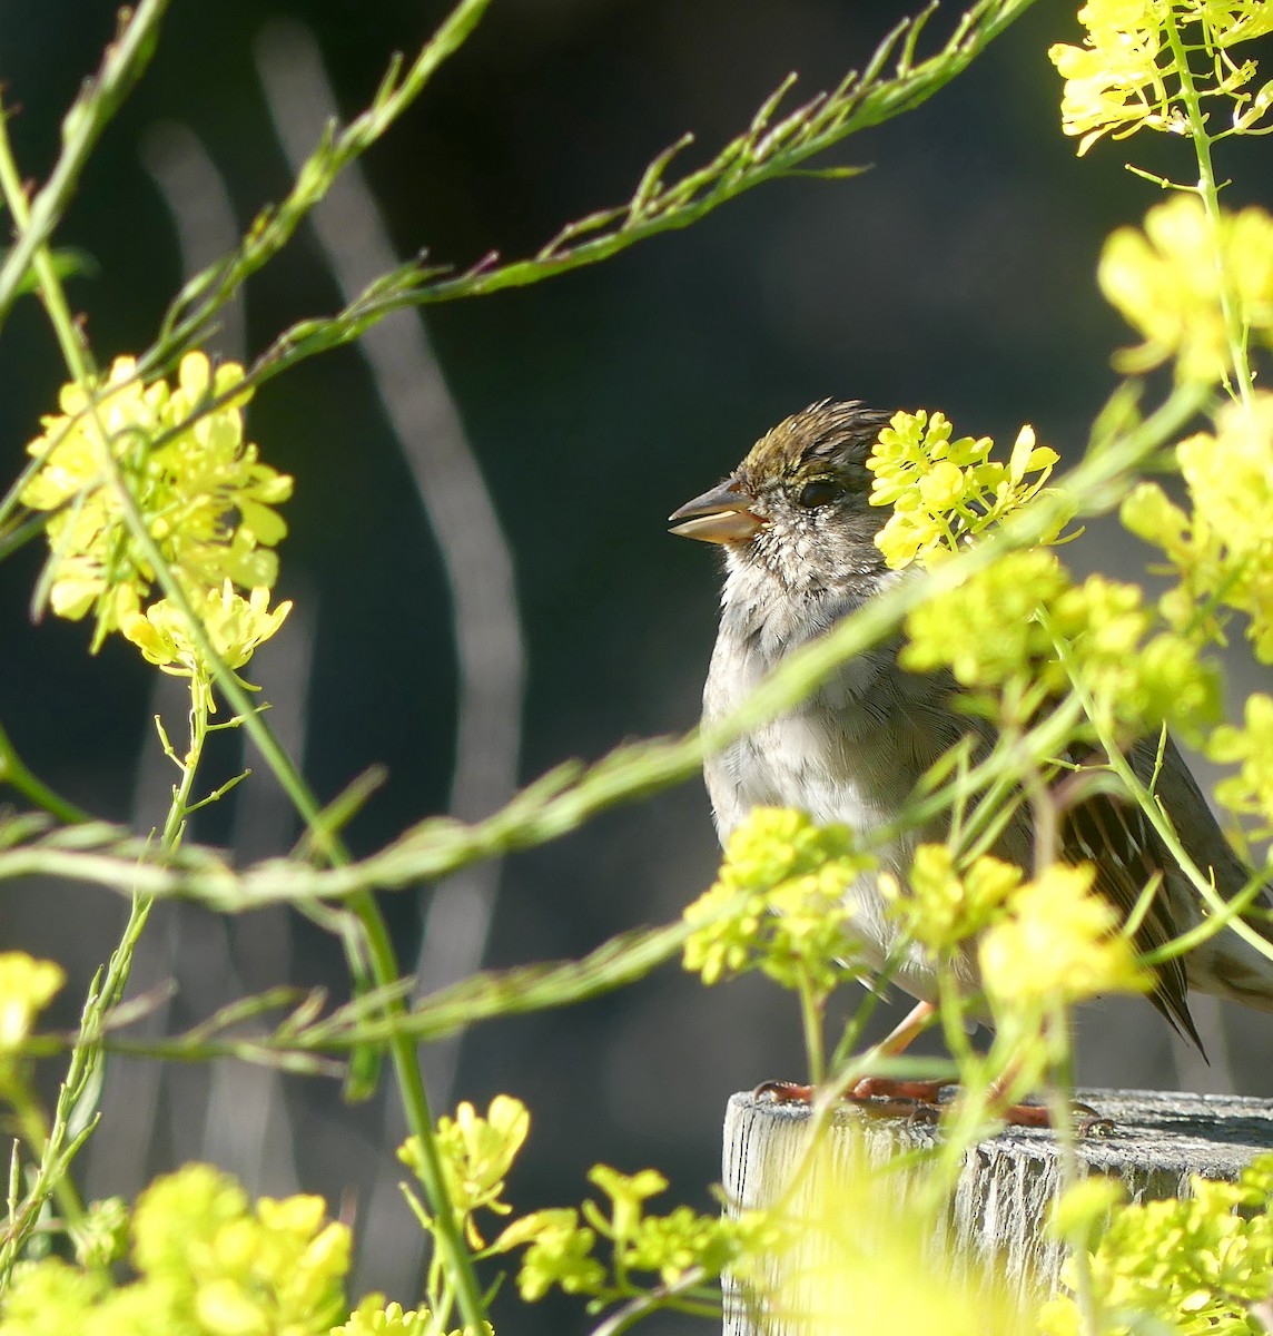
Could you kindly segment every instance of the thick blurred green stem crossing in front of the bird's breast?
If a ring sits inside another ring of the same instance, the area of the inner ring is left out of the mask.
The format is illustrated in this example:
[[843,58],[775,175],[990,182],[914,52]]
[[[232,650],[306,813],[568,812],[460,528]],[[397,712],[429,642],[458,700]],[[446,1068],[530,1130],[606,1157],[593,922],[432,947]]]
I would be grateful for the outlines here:
[[[402,890],[485,858],[544,844],[621,802],[689,779],[705,752],[805,699],[846,660],[894,633],[912,608],[955,588],[1005,550],[1038,542],[1061,514],[1090,514],[1117,505],[1134,482],[1138,465],[1175,440],[1205,402],[1205,390],[1178,386],[1155,413],[1129,426],[1113,444],[1089,452],[1050,497],[1009,518],[992,538],[923,577],[898,581],[827,636],[788,656],[735,715],[709,731],[620,747],[586,768],[578,763],[558,767],[486,820],[465,824],[433,818],[369,858],[345,866],[319,868],[268,859],[242,871],[230,867],[215,850],[198,846],[182,850],[171,866],[138,866],[135,859],[144,851],[131,836],[104,824],[43,835],[24,830],[15,842],[0,836],[0,846],[8,844],[0,848],[0,880],[71,876],[126,894],[135,887],[146,895],[180,895],[212,908],[238,911]],[[1005,755],[1001,764],[1009,767],[1015,759]],[[986,778],[991,778],[988,772]]]

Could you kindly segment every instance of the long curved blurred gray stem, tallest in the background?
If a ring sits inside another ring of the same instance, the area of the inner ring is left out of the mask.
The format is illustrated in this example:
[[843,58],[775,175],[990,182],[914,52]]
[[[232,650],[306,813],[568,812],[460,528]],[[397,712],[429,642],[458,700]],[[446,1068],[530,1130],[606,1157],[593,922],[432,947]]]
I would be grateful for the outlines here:
[[[279,140],[294,172],[310,144],[334,124],[335,96],[311,29],[274,23],[256,41],[256,64]],[[310,215],[346,302],[398,266],[389,232],[358,163],[333,182]],[[517,782],[525,652],[513,552],[418,311],[395,311],[370,326],[359,350],[415,480],[437,538],[451,597],[458,685],[450,811],[477,820],[509,800]],[[500,862],[477,863],[433,891],[415,965],[417,989],[445,989],[482,963],[500,882]],[[447,1108],[461,1034],[423,1054],[435,1108]],[[399,1170],[389,1148],[406,1136],[401,1109],[386,1101],[382,1154],[362,1205],[359,1242],[371,1284],[405,1291],[419,1238],[401,1228]]]

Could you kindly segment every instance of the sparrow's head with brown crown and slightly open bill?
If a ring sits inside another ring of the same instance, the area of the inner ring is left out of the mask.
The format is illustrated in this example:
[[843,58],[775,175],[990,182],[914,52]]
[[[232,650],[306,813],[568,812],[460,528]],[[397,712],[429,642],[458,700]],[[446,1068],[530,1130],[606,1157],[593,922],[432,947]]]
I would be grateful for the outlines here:
[[866,462],[891,417],[859,399],[809,405],[672,514],[672,533],[719,542],[731,566],[768,570],[789,589],[882,572],[874,540],[888,509],[870,505]]

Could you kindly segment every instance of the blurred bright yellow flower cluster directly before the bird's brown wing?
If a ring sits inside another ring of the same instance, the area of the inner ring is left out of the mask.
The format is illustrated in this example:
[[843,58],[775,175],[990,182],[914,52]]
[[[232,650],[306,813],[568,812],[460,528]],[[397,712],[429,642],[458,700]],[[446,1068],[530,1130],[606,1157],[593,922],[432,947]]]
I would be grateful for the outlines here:
[[1017,890],[1007,915],[978,947],[982,985],[996,1014],[1071,1005],[1106,993],[1143,993],[1151,975],[1118,914],[1093,894],[1090,864],[1053,864]]

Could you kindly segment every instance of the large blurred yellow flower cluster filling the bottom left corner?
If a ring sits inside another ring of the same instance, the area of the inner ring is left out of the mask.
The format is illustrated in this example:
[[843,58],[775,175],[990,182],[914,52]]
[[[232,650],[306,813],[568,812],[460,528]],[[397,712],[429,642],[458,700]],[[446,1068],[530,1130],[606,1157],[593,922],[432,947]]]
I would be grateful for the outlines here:
[[138,1279],[55,1257],[13,1273],[0,1336],[95,1332],[142,1336],[322,1336],[345,1312],[350,1234],[318,1197],[263,1197],[210,1165],[158,1178],[132,1220]]

